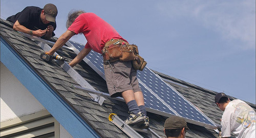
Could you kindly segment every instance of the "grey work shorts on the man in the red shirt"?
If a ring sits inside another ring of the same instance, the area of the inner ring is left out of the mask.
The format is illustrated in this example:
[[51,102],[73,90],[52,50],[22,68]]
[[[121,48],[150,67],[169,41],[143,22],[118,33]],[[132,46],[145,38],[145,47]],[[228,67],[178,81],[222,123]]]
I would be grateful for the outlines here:
[[137,71],[134,70],[131,61],[104,63],[104,72],[111,97],[122,97],[121,92],[125,90],[133,90],[134,93],[141,91],[136,77]]

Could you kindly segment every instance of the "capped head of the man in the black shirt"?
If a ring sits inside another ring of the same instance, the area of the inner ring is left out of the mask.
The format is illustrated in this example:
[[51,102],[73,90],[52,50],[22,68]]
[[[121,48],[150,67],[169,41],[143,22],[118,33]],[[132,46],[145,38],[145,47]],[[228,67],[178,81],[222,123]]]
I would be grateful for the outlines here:
[[50,22],[56,22],[55,18],[57,14],[57,7],[54,4],[47,4],[44,9],[42,9],[40,17],[44,24],[49,24]]

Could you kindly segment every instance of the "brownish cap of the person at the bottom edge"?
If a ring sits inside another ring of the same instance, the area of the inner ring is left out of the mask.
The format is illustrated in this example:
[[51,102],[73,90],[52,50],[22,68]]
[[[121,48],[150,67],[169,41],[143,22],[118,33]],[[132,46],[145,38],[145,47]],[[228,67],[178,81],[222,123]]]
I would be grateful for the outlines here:
[[165,120],[164,123],[164,129],[181,129],[185,128],[186,130],[189,130],[187,127],[187,122],[178,116],[169,117]]

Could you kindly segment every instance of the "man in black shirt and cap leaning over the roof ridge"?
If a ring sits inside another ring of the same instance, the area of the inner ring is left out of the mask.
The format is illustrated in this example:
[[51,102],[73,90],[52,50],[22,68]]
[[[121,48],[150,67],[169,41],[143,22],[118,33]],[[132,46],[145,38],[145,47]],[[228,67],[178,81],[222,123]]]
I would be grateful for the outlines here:
[[29,6],[6,20],[14,23],[13,29],[16,31],[50,39],[55,35],[57,13],[57,7],[53,4],[45,5],[44,9]]

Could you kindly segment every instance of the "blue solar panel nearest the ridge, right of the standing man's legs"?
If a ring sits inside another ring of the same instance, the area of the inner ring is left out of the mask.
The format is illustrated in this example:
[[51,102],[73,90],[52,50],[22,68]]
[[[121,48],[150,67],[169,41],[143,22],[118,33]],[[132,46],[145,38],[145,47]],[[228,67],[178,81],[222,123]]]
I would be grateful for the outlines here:
[[185,98],[178,94],[174,88],[170,87],[149,68],[145,67],[142,72],[137,72],[137,78],[163,99],[181,117],[214,125]]

